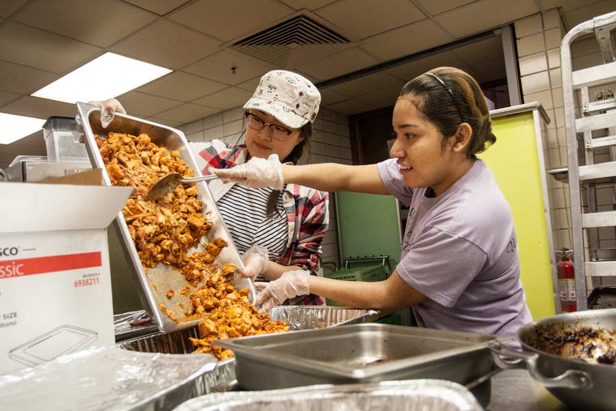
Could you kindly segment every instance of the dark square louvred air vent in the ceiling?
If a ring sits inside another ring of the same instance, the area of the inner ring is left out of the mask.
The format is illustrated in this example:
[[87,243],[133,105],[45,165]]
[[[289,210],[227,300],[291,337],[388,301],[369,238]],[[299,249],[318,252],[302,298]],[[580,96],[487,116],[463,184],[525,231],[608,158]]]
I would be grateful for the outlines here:
[[234,42],[231,48],[285,69],[335,53],[349,43],[332,29],[300,14]]

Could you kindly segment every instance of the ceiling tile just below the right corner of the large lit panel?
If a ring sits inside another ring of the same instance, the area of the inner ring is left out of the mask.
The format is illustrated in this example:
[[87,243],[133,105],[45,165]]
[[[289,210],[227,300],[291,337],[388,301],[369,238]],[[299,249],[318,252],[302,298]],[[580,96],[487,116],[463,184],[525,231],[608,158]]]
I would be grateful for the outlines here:
[[192,101],[209,95],[212,92],[222,90],[225,87],[227,86],[224,84],[213,82],[197,75],[176,71],[145,86],[141,86],[137,90],[169,99]]

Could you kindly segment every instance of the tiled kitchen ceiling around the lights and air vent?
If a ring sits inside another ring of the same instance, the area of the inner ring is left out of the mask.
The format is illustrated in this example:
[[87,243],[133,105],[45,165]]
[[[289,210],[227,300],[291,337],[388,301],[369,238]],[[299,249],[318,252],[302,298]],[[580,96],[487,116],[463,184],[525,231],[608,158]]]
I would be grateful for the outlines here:
[[[29,95],[112,51],[174,70],[118,99],[131,114],[177,126],[246,101],[260,75],[280,67],[229,44],[301,11],[351,40],[285,67],[323,82],[556,7],[570,28],[616,0],[1,0],[0,112],[73,116],[73,105]],[[322,88],[322,106],[354,114],[390,105],[408,79],[439,65],[480,83],[502,78],[500,39]]]

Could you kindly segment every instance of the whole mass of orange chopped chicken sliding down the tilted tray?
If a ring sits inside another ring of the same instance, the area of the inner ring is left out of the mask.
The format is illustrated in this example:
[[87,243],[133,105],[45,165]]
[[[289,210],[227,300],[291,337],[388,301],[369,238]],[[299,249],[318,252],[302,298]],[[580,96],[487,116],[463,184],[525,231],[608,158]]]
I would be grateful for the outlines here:
[[[136,190],[123,209],[123,216],[147,271],[159,263],[180,271],[187,285],[179,294],[190,293],[190,307],[183,314],[201,318],[201,338],[191,338],[198,346],[196,353],[213,353],[218,359],[230,358],[233,351],[214,347],[220,338],[235,338],[257,334],[284,332],[289,327],[281,321],[272,322],[268,314],[260,314],[248,301],[248,290],[237,291],[229,282],[235,265],[218,266],[220,250],[227,246],[222,238],[203,243],[204,251],[189,255],[211,227],[203,215],[203,203],[196,199],[194,184],[180,184],[175,191],[157,201],[146,200],[149,188],[168,173],[193,177],[194,171],[179,158],[179,151],[168,151],[151,142],[147,134],[110,133],[106,140],[97,136],[97,145],[105,168],[114,186],[133,186]],[[168,290],[171,299],[175,290]],[[180,306],[180,305],[179,305]],[[183,306],[182,307],[183,310]],[[159,304],[160,310],[179,323],[175,312]]]

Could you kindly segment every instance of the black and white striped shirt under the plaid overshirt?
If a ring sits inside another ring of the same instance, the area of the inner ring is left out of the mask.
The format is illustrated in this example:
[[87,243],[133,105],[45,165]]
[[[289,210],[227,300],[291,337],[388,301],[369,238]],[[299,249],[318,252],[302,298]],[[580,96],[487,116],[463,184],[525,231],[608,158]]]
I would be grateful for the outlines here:
[[278,197],[274,216],[266,216],[268,197],[273,190],[234,184],[216,203],[240,255],[253,245],[266,247],[272,261],[278,260],[284,253],[289,226],[282,195]]

